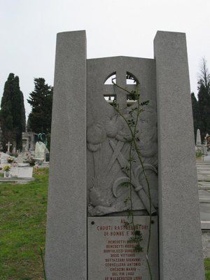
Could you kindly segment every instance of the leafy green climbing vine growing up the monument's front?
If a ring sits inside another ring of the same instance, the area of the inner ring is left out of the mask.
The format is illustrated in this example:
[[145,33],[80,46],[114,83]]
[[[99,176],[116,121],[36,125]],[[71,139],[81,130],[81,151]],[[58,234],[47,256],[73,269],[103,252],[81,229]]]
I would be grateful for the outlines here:
[[[150,264],[149,258],[148,258],[148,253],[149,253],[149,249],[150,249],[150,245],[151,245],[151,225],[153,223],[151,187],[150,187],[150,183],[148,181],[148,176],[146,174],[146,170],[144,167],[144,162],[141,158],[141,151],[139,150],[138,142],[140,141],[140,139],[137,136],[137,134],[139,133],[139,130],[137,129],[137,125],[139,122],[140,114],[144,111],[144,107],[149,104],[149,101],[147,100],[145,102],[140,102],[139,85],[137,85],[136,90],[132,90],[130,92],[130,91],[126,90],[125,88],[120,87],[120,85],[114,83],[113,81],[112,81],[112,83],[113,83],[114,91],[116,91],[116,87],[118,87],[120,90],[124,90],[127,94],[129,94],[130,99],[137,100],[137,106],[135,106],[134,108],[131,108],[129,111],[129,115],[130,115],[129,118],[125,117],[125,115],[123,114],[123,109],[119,108],[118,104],[116,103],[116,100],[114,100],[114,102],[113,102],[113,108],[116,110],[118,115],[121,118],[123,118],[128,129],[130,130],[130,134],[131,134],[131,139],[125,139],[125,141],[127,141],[127,143],[130,144],[129,159],[128,159],[129,165],[126,167],[123,167],[123,172],[125,172],[127,174],[127,176],[130,179],[130,182],[123,183],[123,185],[128,186],[130,188],[130,195],[125,200],[125,204],[127,204],[127,202],[130,202],[130,208],[127,210],[127,216],[129,216],[131,218],[131,222],[130,223],[127,222],[127,225],[129,225],[129,224],[132,225],[132,229],[134,231],[134,237],[131,237],[129,239],[129,241],[134,242],[136,244],[135,251],[137,251],[137,252],[143,251],[143,248],[141,246],[141,241],[143,239],[142,239],[141,231],[139,230],[139,225],[135,225],[135,223],[134,223],[134,210],[133,210],[133,202],[132,202],[132,165],[134,164],[134,162],[138,161],[137,163],[139,163],[139,165],[141,166],[141,168],[143,170],[144,178],[146,180],[146,186],[147,186],[147,190],[148,190],[148,199],[149,199],[149,209],[148,209],[149,228],[148,228],[148,243],[147,243],[147,247],[146,247],[146,262],[147,262],[147,266],[148,266],[148,272],[150,275],[150,279],[152,280],[153,276],[152,276],[152,272],[151,272],[151,264]],[[116,94],[116,92],[115,92],[115,94]],[[134,153],[137,154],[137,159],[134,157]]]

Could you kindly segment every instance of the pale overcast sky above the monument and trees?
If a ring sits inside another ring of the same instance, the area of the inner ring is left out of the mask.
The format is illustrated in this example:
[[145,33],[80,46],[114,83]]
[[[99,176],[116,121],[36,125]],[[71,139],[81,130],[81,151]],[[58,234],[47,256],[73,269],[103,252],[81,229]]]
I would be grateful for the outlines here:
[[202,57],[210,68],[210,0],[0,0],[0,98],[9,73],[27,104],[34,78],[53,85],[56,34],[87,31],[87,58],[153,58],[157,30],[187,34],[191,91]]

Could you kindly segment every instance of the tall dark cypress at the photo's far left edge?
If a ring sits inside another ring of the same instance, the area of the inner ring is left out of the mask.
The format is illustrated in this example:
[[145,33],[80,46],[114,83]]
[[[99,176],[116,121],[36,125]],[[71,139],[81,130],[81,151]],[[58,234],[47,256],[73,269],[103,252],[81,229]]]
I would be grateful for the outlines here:
[[16,148],[22,149],[22,132],[25,129],[25,106],[20,91],[19,78],[10,73],[4,85],[1,99],[1,130],[3,150],[8,141],[15,142]]

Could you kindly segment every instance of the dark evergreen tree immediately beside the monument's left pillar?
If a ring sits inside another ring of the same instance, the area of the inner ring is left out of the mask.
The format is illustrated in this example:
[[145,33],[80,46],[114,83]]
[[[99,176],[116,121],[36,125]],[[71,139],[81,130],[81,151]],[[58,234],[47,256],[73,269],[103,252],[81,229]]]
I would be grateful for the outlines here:
[[33,132],[48,134],[51,131],[53,90],[50,85],[45,83],[44,78],[34,78],[34,85],[34,91],[27,99],[32,107],[28,127]]

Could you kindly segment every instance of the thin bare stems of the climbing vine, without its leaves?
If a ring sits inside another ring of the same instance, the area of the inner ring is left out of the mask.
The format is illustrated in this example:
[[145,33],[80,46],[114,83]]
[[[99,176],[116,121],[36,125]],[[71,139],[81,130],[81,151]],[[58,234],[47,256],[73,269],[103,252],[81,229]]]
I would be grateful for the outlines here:
[[[113,86],[115,87],[119,87],[121,90],[125,90],[125,92],[128,92],[130,94],[132,94],[132,92],[129,92],[128,90],[124,89],[123,87],[120,87],[120,85],[117,85],[116,83],[113,83]],[[153,280],[153,276],[152,276],[152,272],[151,272],[151,265],[150,265],[150,262],[148,260],[148,253],[149,253],[149,248],[150,248],[150,244],[151,244],[151,225],[152,225],[152,201],[151,201],[151,188],[150,188],[150,184],[149,184],[149,181],[148,181],[148,176],[146,174],[146,170],[144,168],[144,162],[141,158],[141,153],[139,151],[139,147],[137,145],[137,141],[136,141],[136,132],[137,132],[137,123],[138,123],[138,120],[139,120],[139,115],[141,113],[141,111],[139,110],[140,109],[140,103],[139,103],[139,97],[140,97],[140,94],[138,93],[137,94],[137,102],[138,102],[138,107],[137,107],[137,120],[136,120],[136,123],[134,125],[134,131],[132,130],[132,128],[130,127],[130,124],[128,123],[127,119],[125,118],[125,116],[123,116],[123,113],[120,112],[120,110],[116,107],[114,107],[116,109],[116,111],[119,113],[119,115],[123,118],[123,120],[125,120],[125,123],[127,124],[127,127],[129,128],[130,130],[130,133],[132,135],[132,141],[131,141],[131,148],[130,148],[130,188],[132,188],[132,179],[131,179],[131,167],[132,167],[132,161],[131,161],[131,151],[132,151],[132,145],[134,144],[134,148],[135,150],[137,151],[137,156],[139,158],[139,162],[141,164],[141,167],[142,167],[142,171],[143,171],[143,174],[144,174],[144,178],[146,179],[146,185],[147,185],[147,189],[148,189],[148,198],[149,198],[149,230],[148,230],[148,243],[147,243],[147,248],[146,248],[146,262],[147,262],[147,266],[148,266],[148,271],[149,271],[149,274],[150,274],[150,278],[151,280]],[[132,198],[132,197],[131,197]],[[131,201],[131,205],[132,205],[132,201]],[[134,217],[133,217],[133,214],[132,214],[132,224],[134,226]],[[138,244],[139,245],[139,244]]]

